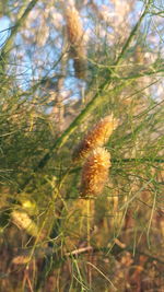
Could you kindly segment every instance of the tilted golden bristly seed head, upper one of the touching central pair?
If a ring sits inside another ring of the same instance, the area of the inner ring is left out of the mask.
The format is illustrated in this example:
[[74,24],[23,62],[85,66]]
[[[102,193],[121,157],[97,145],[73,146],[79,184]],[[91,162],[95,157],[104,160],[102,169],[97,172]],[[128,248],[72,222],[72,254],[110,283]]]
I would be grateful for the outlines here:
[[117,126],[118,120],[114,118],[113,114],[101,119],[74,149],[73,161],[84,159],[93,149],[103,147]]

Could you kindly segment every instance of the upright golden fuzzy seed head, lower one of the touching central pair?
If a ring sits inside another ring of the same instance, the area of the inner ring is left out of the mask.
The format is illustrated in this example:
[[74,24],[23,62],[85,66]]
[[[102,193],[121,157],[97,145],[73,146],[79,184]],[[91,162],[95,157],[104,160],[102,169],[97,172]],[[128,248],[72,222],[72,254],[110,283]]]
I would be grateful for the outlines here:
[[110,154],[104,148],[96,148],[87,157],[82,170],[81,195],[98,195],[108,178]]

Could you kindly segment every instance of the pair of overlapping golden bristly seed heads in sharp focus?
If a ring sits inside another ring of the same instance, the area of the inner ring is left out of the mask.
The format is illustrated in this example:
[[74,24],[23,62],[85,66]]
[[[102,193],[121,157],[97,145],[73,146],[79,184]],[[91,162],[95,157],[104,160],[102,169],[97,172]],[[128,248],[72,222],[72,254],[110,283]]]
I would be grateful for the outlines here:
[[98,195],[108,178],[110,154],[103,147],[118,126],[113,115],[101,119],[73,152],[73,161],[86,159],[82,168],[81,196]]

